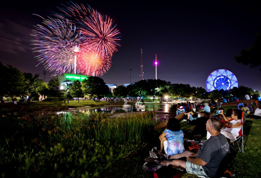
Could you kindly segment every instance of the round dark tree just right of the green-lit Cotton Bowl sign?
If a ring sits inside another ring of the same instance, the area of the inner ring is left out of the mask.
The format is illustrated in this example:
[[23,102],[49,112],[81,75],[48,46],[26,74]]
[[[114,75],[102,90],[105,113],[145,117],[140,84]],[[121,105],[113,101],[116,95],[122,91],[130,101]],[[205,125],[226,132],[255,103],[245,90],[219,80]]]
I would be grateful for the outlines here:
[[99,99],[110,93],[109,87],[102,78],[90,76],[82,81],[82,91],[85,95]]

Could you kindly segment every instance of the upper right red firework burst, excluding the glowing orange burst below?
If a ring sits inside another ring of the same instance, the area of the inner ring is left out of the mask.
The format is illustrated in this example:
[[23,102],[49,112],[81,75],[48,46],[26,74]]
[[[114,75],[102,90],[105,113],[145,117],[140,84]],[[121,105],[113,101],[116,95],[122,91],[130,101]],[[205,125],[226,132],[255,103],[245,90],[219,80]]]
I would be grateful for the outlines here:
[[76,4],[70,1],[62,8],[58,8],[60,14],[55,13],[56,17],[61,19],[72,19],[72,23],[77,24],[81,33],[88,40],[88,46],[96,48],[102,58],[111,58],[112,53],[117,51],[119,44],[119,30],[113,25],[112,19],[108,16],[101,15],[87,4]]

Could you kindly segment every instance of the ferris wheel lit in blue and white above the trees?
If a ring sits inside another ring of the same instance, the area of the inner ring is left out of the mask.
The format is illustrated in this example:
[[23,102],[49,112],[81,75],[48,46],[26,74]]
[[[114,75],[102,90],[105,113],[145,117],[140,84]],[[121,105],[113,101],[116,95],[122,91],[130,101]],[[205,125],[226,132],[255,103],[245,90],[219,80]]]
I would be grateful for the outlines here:
[[238,79],[236,76],[226,69],[218,69],[209,74],[206,81],[207,91],[212,90],[229,90],[238,87]]

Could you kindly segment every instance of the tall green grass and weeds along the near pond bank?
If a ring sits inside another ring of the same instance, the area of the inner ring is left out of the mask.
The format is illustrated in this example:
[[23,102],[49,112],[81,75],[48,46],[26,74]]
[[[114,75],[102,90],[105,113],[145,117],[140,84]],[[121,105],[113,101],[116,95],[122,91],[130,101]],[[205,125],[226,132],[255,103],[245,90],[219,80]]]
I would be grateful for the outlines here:
[[153,113],[132,118],[44,115],[32,122],[2,117],[2,177],[99,177],[144,145]]

